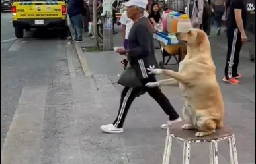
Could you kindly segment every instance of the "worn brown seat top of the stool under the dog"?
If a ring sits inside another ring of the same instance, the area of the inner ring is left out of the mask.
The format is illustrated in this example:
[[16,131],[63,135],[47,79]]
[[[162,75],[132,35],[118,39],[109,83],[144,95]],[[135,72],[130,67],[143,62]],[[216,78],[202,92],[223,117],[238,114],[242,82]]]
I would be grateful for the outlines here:
[[221,138],[225,138],[231,136],[232,128],[228,126],[228,124],[224,125],[223,128],[216,129],[216,132],[209,136],[196,137],[194,136],[198,130],[183,130],[181,126],[187,124],[185,121],[181,121],[179,123],[175,123],[170,125],[169,132],[173,135],[174,138],[179,138],[183,140],[195,141],[195,140],[203,140],[204,142],[210,142],[211,140],[219,140]]

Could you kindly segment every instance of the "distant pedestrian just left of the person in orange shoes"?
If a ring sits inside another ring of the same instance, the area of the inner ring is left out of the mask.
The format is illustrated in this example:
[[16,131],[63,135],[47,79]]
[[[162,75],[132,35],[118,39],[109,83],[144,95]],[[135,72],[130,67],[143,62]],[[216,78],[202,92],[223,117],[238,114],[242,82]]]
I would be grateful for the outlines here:
[[214,2],[214,20],[217,26],[217,35],[220,35],[222,27],[222,16],[225,12],[224,0],[215,0]]

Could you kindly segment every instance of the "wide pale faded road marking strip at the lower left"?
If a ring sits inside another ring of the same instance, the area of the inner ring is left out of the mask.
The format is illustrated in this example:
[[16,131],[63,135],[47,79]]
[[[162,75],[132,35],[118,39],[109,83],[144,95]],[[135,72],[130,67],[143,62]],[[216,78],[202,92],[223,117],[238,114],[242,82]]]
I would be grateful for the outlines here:
[[24,87],[1,151],[1,163],[37,163],[47,86]]

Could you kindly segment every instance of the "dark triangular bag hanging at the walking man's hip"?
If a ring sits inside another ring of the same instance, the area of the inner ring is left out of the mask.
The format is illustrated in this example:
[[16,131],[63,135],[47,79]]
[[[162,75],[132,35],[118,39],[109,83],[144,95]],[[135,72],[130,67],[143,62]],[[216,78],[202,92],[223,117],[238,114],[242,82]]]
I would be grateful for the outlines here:
[[141,87],[142,83],[138,78],[134,68],[128,64],[128,67],[122,72],[120,78],[118,79],[118,84],[130,88]]

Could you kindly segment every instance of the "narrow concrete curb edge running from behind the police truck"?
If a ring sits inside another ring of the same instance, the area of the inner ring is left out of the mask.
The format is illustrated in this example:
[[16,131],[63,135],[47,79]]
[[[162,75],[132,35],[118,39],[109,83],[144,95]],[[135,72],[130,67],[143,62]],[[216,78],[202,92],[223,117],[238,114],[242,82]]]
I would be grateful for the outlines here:
[[[69,24],[68,28],[70,30],[71,33],[71,38],[75,38],[75,34],[73,33],[73,27]],[[89,70],[88,64],[87,64],[87,59],[85,57],[82,57],[83,51],[81,48],[81,45],[79,43],[73,43],[75,45],[75,50],[77,51],[77,55],[81,64],[81,67],[83,68],[83,73],[85,74],[85,76],[91,76],[91,72]]]

